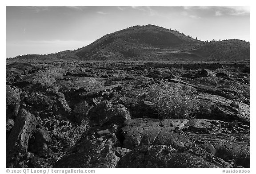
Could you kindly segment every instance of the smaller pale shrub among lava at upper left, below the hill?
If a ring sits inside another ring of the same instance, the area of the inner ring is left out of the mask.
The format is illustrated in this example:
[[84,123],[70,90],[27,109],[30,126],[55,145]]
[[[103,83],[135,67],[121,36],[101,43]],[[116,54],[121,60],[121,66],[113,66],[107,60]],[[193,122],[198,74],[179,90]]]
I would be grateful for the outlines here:
[[52,86],[56,81],[64,78],[64,73],[65,70],[62,68],[53,68],[37,73],[35,80],[43,86]]

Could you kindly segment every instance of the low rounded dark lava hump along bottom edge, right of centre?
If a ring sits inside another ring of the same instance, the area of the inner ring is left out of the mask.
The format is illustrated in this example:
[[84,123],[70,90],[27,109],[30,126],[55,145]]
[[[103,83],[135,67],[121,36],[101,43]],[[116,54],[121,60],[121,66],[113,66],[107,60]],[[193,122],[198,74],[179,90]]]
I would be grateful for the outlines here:
[[118,168],[229,168],[218,157],[201,157],[189,151],[177,152],[166,145],[145,145],[124,155]]

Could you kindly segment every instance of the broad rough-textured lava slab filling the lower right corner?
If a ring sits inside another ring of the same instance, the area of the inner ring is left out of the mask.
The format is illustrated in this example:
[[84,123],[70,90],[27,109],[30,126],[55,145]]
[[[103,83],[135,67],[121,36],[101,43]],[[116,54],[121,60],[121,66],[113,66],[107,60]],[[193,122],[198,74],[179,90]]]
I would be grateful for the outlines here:
[[183,130],[192,142],[190,151],[203,158],[217,157],[215,162],[227,168],[250,166],[250,133],[237,120],[234,123],[190,120]]

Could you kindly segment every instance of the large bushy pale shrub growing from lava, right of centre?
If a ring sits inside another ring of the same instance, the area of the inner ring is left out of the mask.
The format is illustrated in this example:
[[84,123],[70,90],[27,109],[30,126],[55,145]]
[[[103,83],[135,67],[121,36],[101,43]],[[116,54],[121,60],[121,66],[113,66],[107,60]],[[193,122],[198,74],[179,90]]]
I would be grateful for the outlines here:
[[180,84],[174,87],[153,85],[148,95],[161,118],[192,119],[192,112],[198,109],[198,103],[191,92]]

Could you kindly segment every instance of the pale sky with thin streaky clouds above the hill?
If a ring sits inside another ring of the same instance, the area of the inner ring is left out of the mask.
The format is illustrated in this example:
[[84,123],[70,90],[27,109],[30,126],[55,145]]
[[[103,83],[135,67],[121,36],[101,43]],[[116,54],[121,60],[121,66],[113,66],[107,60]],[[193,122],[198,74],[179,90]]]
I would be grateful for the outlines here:
[[250,42],[250,6],[6,6],[6,57],[73,50],[147,24],[203,41]]

